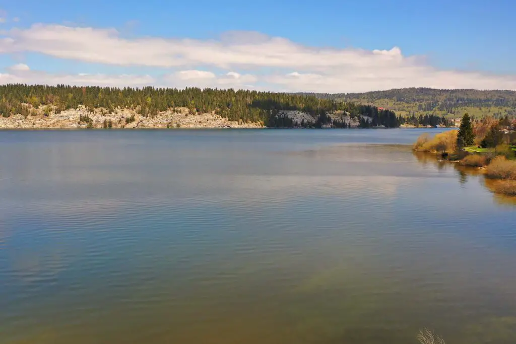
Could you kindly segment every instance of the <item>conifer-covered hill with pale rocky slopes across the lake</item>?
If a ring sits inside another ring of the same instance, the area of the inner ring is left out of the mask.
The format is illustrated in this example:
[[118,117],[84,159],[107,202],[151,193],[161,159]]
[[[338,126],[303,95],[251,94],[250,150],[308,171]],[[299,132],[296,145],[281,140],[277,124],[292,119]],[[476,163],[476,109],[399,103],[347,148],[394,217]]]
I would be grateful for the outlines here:
[[0,127],[4,128],[400,125],[393,111],[354,102],[199,88],[2,85],[0,114]]

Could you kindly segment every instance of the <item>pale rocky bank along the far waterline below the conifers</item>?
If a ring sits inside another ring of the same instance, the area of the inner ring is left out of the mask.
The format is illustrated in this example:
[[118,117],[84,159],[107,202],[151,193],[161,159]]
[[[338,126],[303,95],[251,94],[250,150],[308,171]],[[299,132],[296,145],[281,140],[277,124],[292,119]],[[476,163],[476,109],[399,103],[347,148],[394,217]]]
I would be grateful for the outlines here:
[[[441,127],[412,125],[399,125],[388,127],[384,125],[363,126],[362,122],[371,123],[372,118],[359,115],[351,117],[343,111],[328,113],[331,121],[319,123],[309,113],[299,110],[282,110],[277,114],[276,120],[285,126],[266,126],[263,121],[231,120],[222,117],[217,111],[196,112],[186,107],[169,108],[150,114],[147,111],[133,108],[115,108],[108,110],[103,107],[87,108],[79,105],[77,108],[59,110],[52,106],[39,106],[31,108],[24,104],[30,111],[12,114],[8,117],[0,117],[0,130],[77,130],[77,129],[432,129]],[[341,113],[342,112],[342,113]],[[360,118],[360,120],[359,120]],[[364,121],[362,121],[364,120]],[[276,122],[278,123],[278,122]],[[270,125],[270,123],[269,123]],[[344,126],[344,127],[343,127]],[[347,126],[347,127],[346,127]]]

